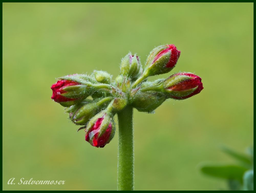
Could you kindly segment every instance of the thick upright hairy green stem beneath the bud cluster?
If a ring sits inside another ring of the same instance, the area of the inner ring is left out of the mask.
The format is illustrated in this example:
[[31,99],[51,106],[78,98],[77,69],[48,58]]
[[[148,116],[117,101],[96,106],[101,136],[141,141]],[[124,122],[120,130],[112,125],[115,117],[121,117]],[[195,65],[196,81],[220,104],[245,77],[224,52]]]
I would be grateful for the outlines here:
[[133,190],[134,149],[133,149],[133,109],[125,107],[118,113],[118,190]]

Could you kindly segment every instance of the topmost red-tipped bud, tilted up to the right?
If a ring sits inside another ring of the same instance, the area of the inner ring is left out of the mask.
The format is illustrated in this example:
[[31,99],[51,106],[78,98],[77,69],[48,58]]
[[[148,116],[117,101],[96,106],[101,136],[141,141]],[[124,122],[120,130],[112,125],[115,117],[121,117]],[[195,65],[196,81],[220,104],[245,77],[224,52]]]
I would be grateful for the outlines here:
[[154,76],[170,72],[176,65],[180,56],[180,51],[174,44],[158,46],[153,49],[148,56],[143,74]]

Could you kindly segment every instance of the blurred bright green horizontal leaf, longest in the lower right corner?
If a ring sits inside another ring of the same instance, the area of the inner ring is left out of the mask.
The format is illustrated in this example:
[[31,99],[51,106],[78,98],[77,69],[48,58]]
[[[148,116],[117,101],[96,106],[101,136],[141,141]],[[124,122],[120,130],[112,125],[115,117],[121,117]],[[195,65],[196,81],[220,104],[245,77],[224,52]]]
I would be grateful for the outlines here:
[[207,175],[239,180],[242,182],[243,174],[247,169],[238,165],[204,165],[201,171]]

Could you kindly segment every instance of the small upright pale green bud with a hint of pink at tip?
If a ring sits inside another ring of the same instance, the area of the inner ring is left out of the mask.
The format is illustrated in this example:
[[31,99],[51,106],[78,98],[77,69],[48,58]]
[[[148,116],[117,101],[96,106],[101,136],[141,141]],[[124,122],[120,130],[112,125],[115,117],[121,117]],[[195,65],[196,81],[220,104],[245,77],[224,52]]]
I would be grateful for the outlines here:
[[128,53],[121,61],[121,74],[136,78],[142,73],[142,65],[139,57]]

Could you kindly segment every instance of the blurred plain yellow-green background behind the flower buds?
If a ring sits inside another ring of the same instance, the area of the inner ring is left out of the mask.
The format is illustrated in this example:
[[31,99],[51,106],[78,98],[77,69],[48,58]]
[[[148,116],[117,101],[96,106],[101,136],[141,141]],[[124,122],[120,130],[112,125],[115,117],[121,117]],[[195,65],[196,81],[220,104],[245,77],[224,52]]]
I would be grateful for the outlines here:
[[[167,43],[181,50],[169,74],[196,73],[204,90],[134,110],[135,190],[226,188],[198,164],[230,162],[221,144],[253,143],[253,3],[4,3],[3,189],[115,190],[118,130],[92,147],[50,86],[94,69],[115,77],[129,51],[144,63]],[[66,183],[7,185],[13,177]]]

